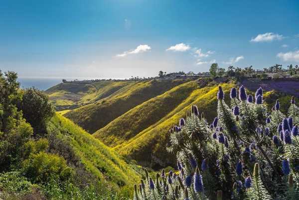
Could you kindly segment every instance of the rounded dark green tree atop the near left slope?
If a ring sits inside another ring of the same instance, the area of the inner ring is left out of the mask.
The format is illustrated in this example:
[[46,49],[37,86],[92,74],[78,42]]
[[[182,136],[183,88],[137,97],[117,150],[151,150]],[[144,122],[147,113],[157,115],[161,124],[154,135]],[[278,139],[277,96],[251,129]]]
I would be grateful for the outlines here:
[[55,110],[43,92],[35,88],[26,89],[19,108],[24,118],[31,124],[34,135],[46,133],[46,123],[54,115]]

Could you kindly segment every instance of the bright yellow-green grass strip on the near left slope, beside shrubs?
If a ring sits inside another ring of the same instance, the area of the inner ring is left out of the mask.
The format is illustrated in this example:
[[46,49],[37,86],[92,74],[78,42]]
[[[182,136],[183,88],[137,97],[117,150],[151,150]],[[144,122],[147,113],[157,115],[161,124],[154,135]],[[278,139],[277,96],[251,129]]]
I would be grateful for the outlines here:
[[114,150],[65,117],[56,115],[49,128],[58,130],[59,137],[70,142],[86,171],[94,175],[103,187],[113,190],[128,190],[139,179],[136,171]]

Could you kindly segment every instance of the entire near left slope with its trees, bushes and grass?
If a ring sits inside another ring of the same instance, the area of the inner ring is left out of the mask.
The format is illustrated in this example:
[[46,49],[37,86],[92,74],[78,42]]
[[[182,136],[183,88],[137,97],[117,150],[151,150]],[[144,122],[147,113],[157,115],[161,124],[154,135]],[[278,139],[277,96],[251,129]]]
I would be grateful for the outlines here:
[[40,91],[0,73],[0,198],[128,198],[139,167],[61,115]]

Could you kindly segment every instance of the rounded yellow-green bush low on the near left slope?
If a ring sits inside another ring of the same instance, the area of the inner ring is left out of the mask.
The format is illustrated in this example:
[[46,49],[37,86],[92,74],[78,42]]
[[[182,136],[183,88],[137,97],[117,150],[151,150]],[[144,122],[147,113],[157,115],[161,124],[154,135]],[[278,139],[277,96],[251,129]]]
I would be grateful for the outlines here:
[[47,182],[51,177],[65,181],[73,175],[73,170],[66,165],[63,158],[44,152],[34,154],[25,160],[23,169],[26,176],[34,183]]

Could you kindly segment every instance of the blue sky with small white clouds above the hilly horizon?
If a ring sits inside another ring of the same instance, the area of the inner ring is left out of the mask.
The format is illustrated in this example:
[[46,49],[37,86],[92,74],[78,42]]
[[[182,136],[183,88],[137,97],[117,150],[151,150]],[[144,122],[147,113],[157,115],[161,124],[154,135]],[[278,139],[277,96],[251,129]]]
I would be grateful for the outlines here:
[[130,78],[299,64],[299,0],[1,0],[0,69]]

